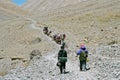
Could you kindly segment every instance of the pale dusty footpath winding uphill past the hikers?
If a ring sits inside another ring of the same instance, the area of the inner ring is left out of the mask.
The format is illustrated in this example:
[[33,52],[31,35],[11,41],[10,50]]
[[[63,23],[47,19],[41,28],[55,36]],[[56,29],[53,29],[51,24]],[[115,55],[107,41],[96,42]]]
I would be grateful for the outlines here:
[[[35,24],[36,22],[32,19],[29,19],[31,20],[31,25],[30,27],[33,28],[33,29],[38,29],[38,30],[42,30],[41,28],[39,27],[36,27]],[[49,38],[49,37],[48,37]],[[51,41],[51,39],[49,38],[48,39],[49,42],[53,42],[53,44],[56,44],[54,43],[54,41]],[[46,60],[49,60],[49,61],[53,61],[54,62],[54,66],[56,65],[57,63],[57,52],[58,52],[58,48],[60,46],[56,44],[56,49],[53,49],[53,51],[51,52],[48,52],[47,55],[43,55],[43,57],[46,59]],[[69,74],[73,74],[74,76],[73,77],[76,77],[75,80],[96,80],[93,78],[93,76],[89,73],[89,71],[86,71],[86,72],[80,72],[79,71],[79,62],[77,61],[72,61],[69,57],[71,56],[74,56],[74,54],[70,53],[68,54],[68,62],[66,64],[66,71],[69,71],[68,73],[68,76],[71,76]],[[51,66],[53,66],[51,64]],[[56,66],[57,67],[57,66]],[[55,68],[55,67],[54,67]],[[78,79],[77,79],[78,78]],[[80,79],[80,78],[83,78],[83,79]],[[72,79],[74,80],[74,79]]]

